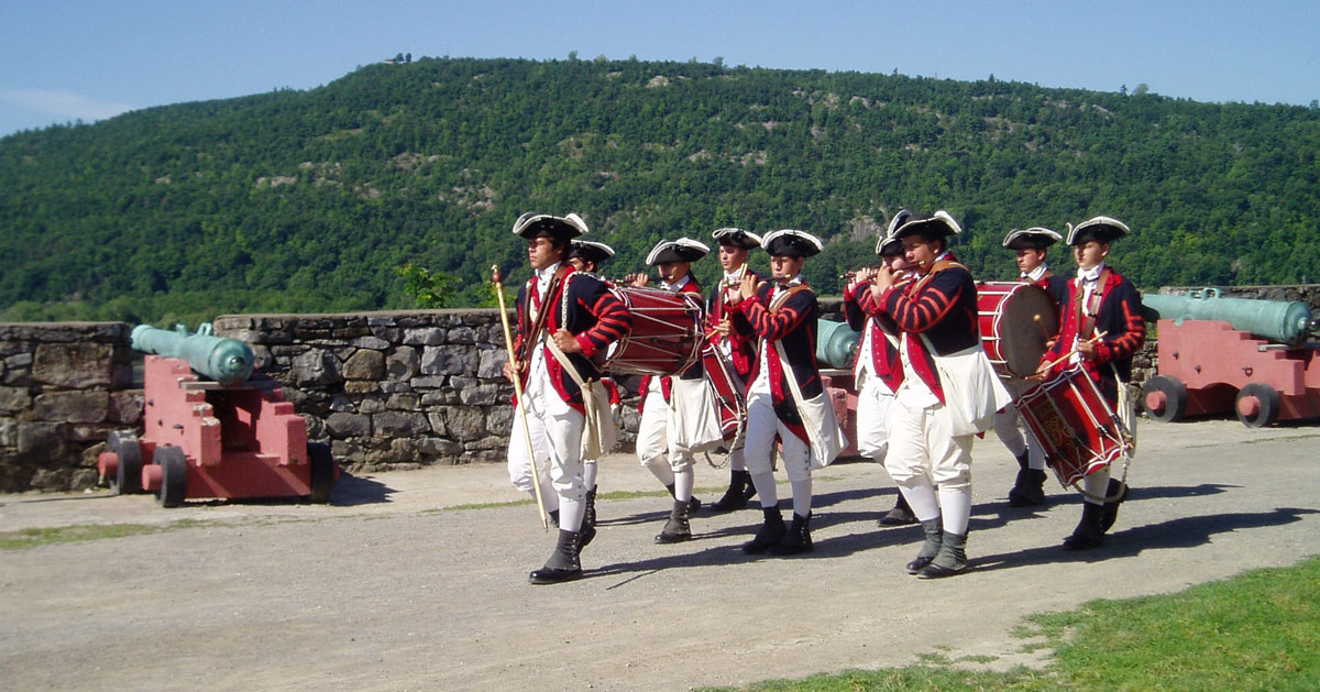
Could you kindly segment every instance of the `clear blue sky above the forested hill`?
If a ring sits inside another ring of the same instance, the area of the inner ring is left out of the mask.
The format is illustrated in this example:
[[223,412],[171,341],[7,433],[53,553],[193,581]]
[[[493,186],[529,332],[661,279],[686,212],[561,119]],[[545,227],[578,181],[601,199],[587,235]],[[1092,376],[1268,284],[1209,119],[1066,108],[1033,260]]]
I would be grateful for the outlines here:
[[396,53],[723,58],[1203,102],[1320,99],[1320,4],[1286,1],[0,0],[0,136],[273,88]]

